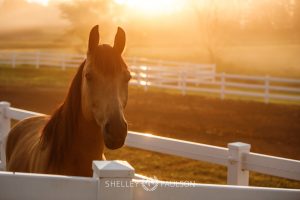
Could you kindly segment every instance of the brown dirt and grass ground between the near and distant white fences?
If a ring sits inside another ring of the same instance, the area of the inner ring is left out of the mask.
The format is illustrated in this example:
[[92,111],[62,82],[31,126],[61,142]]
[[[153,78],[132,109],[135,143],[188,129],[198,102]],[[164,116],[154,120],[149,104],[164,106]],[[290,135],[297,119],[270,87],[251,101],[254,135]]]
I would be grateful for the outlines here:
[[[51,114],[63,100],[74,72],[1,67],[0,99],[15,107]],[[299,106],[220,101],[131,87],[126,118],[133,131],[216,146],[242,141],[250,143],[253,152],[300,159]],[[226,183],[226,168],[214,164],[129,147],[106,150],[106,156],[127,160],[137,173],[162,180]],[[300,182],[252,172],[250,184],[300,188]]]

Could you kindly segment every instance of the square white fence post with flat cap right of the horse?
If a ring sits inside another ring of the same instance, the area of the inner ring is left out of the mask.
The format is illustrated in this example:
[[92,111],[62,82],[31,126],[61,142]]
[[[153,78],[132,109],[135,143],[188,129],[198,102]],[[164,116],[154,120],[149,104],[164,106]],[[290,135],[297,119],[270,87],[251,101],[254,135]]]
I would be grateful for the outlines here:
[[249,171],[244,170],[242,161],[244,154],[250,152],[251,145],[242,142],[228,144],[228,166],[227,166],[227,184],[243,185],[249,184]]

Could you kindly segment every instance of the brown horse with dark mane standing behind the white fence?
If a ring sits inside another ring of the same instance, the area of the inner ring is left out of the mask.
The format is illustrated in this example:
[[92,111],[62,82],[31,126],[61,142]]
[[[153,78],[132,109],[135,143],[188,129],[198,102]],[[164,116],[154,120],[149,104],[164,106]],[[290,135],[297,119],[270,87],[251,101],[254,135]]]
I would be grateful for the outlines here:
[[99,45],[99,40],[96,25],[90,30],[86,58],[54,114],[27,118],[12,128],[7,171],[92,176],[92,161],[105,160],[105,146],[123,146],[131,78],[122,58],[125,32],[118,27],[113,47]]

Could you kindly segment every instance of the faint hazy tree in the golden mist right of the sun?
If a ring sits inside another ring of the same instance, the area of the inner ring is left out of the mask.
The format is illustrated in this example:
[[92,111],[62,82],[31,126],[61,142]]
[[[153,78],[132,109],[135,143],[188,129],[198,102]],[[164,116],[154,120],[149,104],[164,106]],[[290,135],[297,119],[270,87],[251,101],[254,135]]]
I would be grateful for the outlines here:
[[[230,6],[228,6],[230,5]],[[220,48],[229,42],[234,29],[239,27],[238,6],[232,0],[210,0],[193,2],[198,18],[201,45],[211,63],[218,63]]]

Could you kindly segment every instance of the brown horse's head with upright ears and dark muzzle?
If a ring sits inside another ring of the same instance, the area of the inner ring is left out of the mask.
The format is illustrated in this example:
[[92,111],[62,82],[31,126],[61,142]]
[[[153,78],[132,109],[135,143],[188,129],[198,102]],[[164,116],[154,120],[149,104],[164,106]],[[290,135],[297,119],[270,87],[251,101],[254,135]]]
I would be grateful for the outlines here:
[[85,119],[102,129],[109,149],[123,146],[127,122],[123,110],[127,103],[130,72],[122,59],[125,32],[118,28],[114,46],[99,45],[98,26],[92,28],[82,71],[81,102]]

